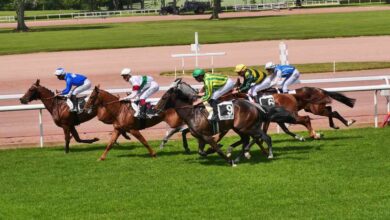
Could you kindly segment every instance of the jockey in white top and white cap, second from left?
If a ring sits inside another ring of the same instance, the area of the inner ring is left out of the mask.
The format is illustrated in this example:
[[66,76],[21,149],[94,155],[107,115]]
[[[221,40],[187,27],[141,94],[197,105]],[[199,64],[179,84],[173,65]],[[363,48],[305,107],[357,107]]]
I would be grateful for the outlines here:
[[130,68],[124,68],[121,72],[121,76],[126,82],[129,82],[133,86],[133,91],[130,95],[121,98],[120,100],[139,100],[139,116],[140,118],[146,118],[146,99],[159,90],[159,85],[151,76],[132,76]]

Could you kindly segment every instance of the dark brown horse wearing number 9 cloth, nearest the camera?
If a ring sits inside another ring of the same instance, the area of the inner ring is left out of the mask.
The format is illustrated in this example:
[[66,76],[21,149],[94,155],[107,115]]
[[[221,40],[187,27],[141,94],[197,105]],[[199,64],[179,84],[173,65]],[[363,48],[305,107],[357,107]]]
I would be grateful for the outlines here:
[[[155,109],[164,111],[169,108],[174,108],[180,118],[188,125],[191,134],[198,139],[199,143],[209,144],[215,152],[232,166],[235,166],[234,161],[224,154],[217,144],[230,129],[234,130],[241,137],[241,141],[245,146],[238,158],[243,154],[249,154],[249,147],[259,139],[267,143],[269,157],[273,157],[271,137],[261,130],[262,123],[269,119],[267,119],[266,113],[259,107],[244,99],[233,100],[234,119],[219,121],[220,133],[213,136],[213,128],[207,120],[207,112],[204,106],[192,105],[195,99],[197,99],[197,92],[190,85],[178,79],[162,96]],[[287,117],[294,120],[291,115]],[[253,138],[252,143],[249,143],[250,137]]]

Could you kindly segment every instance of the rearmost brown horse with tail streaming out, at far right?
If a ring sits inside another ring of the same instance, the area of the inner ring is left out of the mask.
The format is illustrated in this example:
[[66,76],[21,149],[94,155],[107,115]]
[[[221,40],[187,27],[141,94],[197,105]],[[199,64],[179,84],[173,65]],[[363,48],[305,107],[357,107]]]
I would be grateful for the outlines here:
[[[309,116],[300,116],[298,111],[304,109],[307,112],[311,112],[315,115],[326,116],[329,118],[329,126],[338,129],[334,125],[333,117],[339,119],[345,126],[352,125],[355,120],[345,120],[337,111],[332,111],[331,106],[327,106],[331,103],[332,99],[335,99],[349,107],[353,107],[355,99],[348,98],[347,96],[338,92],[329,92],[320,88],[314,87],[302,87],[295,90],[295,94],[277,94],[276,90],[266,90],[261,93],[273,93],[272,96],[275,100],[275,105],[283,106],[288,111],[292,112],[297,119],[297,124],[304,125],[309,133],[310,137],[314,139],[321,138],[321,135],[316,133],[311,126],[311,120]],[[264,130],[268,130],[269,124],[264,124]]]

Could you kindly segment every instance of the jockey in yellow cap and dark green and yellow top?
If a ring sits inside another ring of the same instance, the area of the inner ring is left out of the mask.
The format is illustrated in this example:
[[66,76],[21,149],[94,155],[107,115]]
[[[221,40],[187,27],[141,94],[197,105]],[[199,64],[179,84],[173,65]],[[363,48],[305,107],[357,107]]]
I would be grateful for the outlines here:
[[[244,77],[244,83],[240,86],[237,92],[243,92],[252,97],[257,96],[257,92],[262,90],[263,81],[267,78],[267,74],[262,71],[247,68],[244,64],[238,64],[234,70],[239,76]],[[264,88],[266,89],[266,88]]]

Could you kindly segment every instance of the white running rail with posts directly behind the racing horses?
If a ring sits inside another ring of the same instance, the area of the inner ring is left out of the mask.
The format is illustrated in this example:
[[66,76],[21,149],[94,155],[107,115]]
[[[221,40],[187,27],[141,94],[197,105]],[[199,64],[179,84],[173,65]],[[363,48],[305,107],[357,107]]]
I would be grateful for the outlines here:
[[[361,82],[361,81],[383,81],[384,84],[369,85],[369,86],[349,86],[349,87],[334,87],[324,88],[331,92],[362,92],[372,91],[374,92],[374,124],[378,127],[378,91],[381,91],[382,95],[389,96],[390,90],[390,75],[387,76],[367,76],[367,77],[348,77],[348,78],[331,78],[331,79],[308,79],[301,80],[302,84],[317,84],[317,83],[342,83],[342,82]],[[193,85],[194,88],[201,88],[201,85]],[[160,91],[166,91],[169,86],[160,87]],[[130,89],[109,89],[110,93],[126,93],[130,92]],[[82,94],[90,94],[91,91],[86,91]],[[19,99],[23,94],[12,94],[12,95],[0,95],[0,100]],[[158,101],[158,98],[150,99],[150,101]],[[390,112],[390,100],[387,97],[387,111]],[[43,123],[42,123],[42,109],[45,109],[43,104],[33,105],[13,105],[13,106],[0,106],[0,112],[9,111],[28,111],[28,110],[39,110],[38,122],[40,131],[40,146],[43,147]]]

